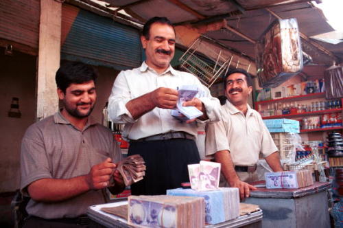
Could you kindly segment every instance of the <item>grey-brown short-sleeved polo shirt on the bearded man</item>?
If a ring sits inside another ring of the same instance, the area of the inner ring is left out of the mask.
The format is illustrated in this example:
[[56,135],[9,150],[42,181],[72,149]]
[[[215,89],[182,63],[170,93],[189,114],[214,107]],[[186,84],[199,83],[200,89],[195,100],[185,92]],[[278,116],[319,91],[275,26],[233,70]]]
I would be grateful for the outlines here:
[[[21,144],[21,191],[39,179],[70,179],[88,174],[92,166],[111,157],[121,160],[113,134],[88,117],[83,130],[75,128],[60,112],[27,128]],[[75,218],[91,205],[106,203],[103,190],[91,190],[66,201],[30,200],[27,212],[40,218]]]

